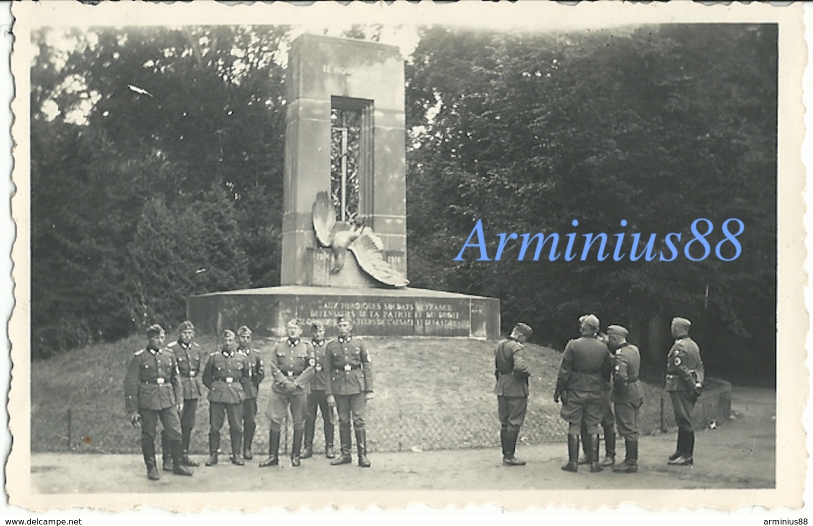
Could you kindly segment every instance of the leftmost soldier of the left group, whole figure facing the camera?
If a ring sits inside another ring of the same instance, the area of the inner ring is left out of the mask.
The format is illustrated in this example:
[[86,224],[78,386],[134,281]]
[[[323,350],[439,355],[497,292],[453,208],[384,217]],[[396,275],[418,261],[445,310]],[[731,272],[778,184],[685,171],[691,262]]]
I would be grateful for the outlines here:
[[155,429],[161,419],[172,450],[172,472],[191,476],[183,466],[179,411],[183,410],[184,389],[180,384],[175,354],[162,348],[164,332],[160,325],[147,328],[150,341],[137,350],[124,376],[124,407],[133,426],[141,422],[141,453],[147,478],[159,480],[155,464]]

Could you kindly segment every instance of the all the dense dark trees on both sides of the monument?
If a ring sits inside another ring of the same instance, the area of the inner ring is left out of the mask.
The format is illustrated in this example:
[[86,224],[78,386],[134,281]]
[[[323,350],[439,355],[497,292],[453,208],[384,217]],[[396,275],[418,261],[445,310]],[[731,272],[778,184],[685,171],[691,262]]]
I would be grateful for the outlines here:
[[[48,36],[32,69],[34,354],[174,324],[189,293],[277,285],[287,28]],[[712,363],[747,348],[737,363],[772,367],[776,46],[767,24],[421,28],[406,62],[412,285],[501,298],[504,326],[555,346],[589,311],[644,346],[650,324],[686,315]],[[598,261],[596,246],[520,261],[516,241],[499,261],[454,261],[477,220],[494,259],[498,233],[624,233],[624,254],[654,234],[658,254],[698,218],[715,226],[702,261]],[[745,232],[724,262],[729,218]]]

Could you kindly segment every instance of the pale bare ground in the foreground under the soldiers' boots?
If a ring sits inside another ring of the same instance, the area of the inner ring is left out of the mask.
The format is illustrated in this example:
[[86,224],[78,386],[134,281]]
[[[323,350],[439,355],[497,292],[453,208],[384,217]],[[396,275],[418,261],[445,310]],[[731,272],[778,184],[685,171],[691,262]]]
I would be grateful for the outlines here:
[[[639,472],[573,474],[559,467],[565,444],[520,446],[525,467],[502,467],[498,450],[372,454],[372,468],[333,467],[324,457],[290,467],[259,469],[256,459],[195,468],[192,477],[163,473],[146,479],[141,457],[103,454],[33,454],[34,493],[176,493],[308,490],[489,490],[489,489],[737,489],[776,485],[776,393],[733,389],[735,418],[698,433],[694,467],[668,466],[674,433],[641,438]],[[496,423],[495,423],[496,424]],[[375,425],[373,422],[372,425]],[[495,433],[496,433],[495,427]],[[623,454],[623,441],[620,441]],[[736,461],[735,461],[736,459]],[[198,460],[203,461],[203,458]],[[227,459],[228,462],[228,459]]]

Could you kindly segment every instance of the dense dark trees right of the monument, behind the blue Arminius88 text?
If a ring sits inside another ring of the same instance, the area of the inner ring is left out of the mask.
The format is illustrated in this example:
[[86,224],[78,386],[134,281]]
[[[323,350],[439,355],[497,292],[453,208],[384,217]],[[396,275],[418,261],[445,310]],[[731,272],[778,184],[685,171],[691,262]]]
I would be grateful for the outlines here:
[[[712,361],[748,341],[737,363],[773,363],[775,26],[428,28],[408,79],[407,115],[421,127],[407,196],[414,285],[502,298],[504,326],[527,320],[557,346],[585,312],[641,339],[653,315],[667,331],[682,314],[715,346]],[[740,257],[599,262],[593,250],[551,262],[546,249],[534,262],[515,245],[499,262],[472,249],[453,261],[476,220],[493,259],[498,233],[625,233],[625,254],[633,233],[655,233],[657,254],[667,233],[691,239],[698,218],[715,225],[713,243],[724,220],[741,220]],[[415,252],[429,256],[420,272]]]

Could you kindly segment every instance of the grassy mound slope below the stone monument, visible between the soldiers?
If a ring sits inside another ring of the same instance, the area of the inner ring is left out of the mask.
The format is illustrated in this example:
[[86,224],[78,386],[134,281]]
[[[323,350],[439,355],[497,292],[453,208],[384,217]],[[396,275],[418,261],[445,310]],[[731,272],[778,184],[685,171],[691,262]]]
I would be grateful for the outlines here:
[[[496,341],[468,339],[364,337],[375,365],[376,398],[367,404],[371,450],[435,450],[498,446],[497,403],[493,395],[493,347]],[[212,337],[199,337],[205,350],[215,350]],[[143,337],[74,350],[33,363],[31,373],[32,449],[136,453],[139,432],[124,414],[124,373]],[[264,361],[274,341],[255,341]],[[561,354],[547,347],[526,346],[531,396],[521,440],[563,440],[567,424],[553,402]],[[265,416],[270,380],[260,386],[254,451],[267,448]],[[657,433],[659,389],[646,385],[641,431]],[[667,409],[670,409],[667,407]],[[207,452],[208,403],[198,405],[191,450]],[[228,451],[228,424],[221,449]],[[315,447],[323,445],[317,422]],[[338,433],[336,437],[338,442]],[[283,443],[286,449],[288,441]],[[338,446],[338,444],[337,444]]]

